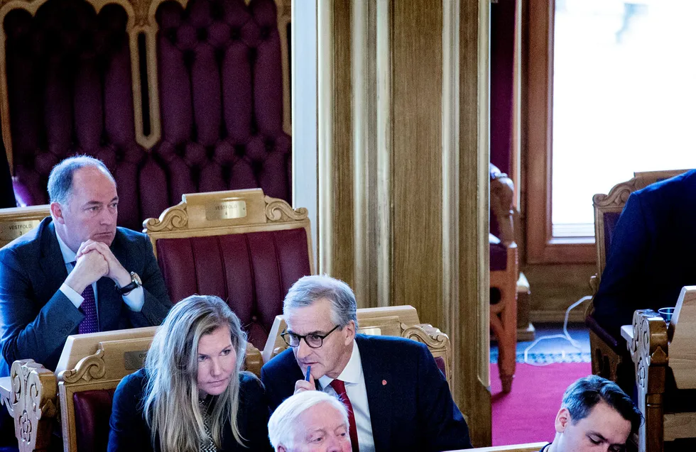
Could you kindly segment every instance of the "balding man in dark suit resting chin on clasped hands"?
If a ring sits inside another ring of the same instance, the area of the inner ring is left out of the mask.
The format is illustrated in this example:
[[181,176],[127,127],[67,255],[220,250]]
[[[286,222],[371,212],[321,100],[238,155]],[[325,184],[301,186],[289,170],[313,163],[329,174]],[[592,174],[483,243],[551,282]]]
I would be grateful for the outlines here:
[[55,370],[70,334],[161,324],[171,302],[148,238],[116,227],[116,182],[76,156],[48,178],[50,217],[0,250],[0,376],[31,358]]

